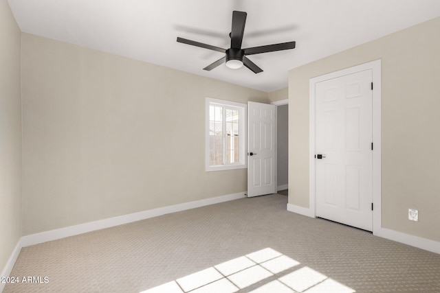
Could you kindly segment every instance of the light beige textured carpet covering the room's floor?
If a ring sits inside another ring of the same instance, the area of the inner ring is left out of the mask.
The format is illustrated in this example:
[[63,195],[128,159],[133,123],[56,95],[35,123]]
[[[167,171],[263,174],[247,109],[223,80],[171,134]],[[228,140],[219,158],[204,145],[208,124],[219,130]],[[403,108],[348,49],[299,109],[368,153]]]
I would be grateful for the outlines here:
[[3,292],[142,292],[168,282],[181,290],[181,278],[231,259],[269,268],[252,257],[265,248],[294,265],[279,272],[256,265],[250,275],[263,279],[253,283],[238,274],[221,281],[236,292],[272,285],[265,292],[440,292],[440,255],[297,215],[286,204],[281,195],[243,198],[29,246],[11,276],[48,283],[9,283]]

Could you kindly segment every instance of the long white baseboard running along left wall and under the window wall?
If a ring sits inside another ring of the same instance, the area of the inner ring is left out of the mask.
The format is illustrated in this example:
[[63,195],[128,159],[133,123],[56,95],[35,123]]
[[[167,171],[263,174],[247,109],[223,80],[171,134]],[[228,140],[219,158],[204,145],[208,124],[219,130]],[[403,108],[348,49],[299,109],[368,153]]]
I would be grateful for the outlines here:
[[[94,222],[88,222],[85,224],[79,224],[75,226],[69,226],[65,228],[59,228],[52,231],[46,231],[42,233],[36,233],[32,235],[26,235],[19,239],[17,246],[15,246],[12,255],[10,256],[8,263],[6,263],[5,268],[1,272],[1,276],[9,276],[12,268],[14,267],[17,257],[21,248],[25,246],[41,244],[43,242],[48,242],[56,239],[61,239],[69,236],[79,235],[91,231],[100,230],[103,228],[109,228],[113,226],[119,226],[122,224],[127,224],[131,222],[136,222],[140,220],[145,220],[148,218],[154,218],[159,215],[165,215],[167,213],[175,213],[177,211],[185,211],[188,209],[195,209],[197,207],[204,207],[210,204],[217,204],[219,202],[227,202],[230,200],[237,200],[239,198],[245,198],[245,192],[240,192],[238,194],[228,194],[226,196],[217,196],[215,198],[206,198],[204,200],[195,200],[192,202],[185,202],[183,204],[175,204],[168,207],[160,207],[157,209],[151,209],[148,211],[140,211],[138,213],[130,213],[128,215],[120,215],[118,217],[107,218],[103,220],[98,220]],[[0,283],[0,292],[3,291],[5,284]]]

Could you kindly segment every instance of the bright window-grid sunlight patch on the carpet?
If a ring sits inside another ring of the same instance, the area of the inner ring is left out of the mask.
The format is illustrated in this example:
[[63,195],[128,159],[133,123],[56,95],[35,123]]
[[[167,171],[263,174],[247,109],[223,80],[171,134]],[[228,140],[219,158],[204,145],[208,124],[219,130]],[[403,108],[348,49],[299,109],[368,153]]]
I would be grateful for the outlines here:
[[244,288],[250,290],[252,285],[257,286],[253,293],[356,292],[307,266],[286,272],[299,265],[287,255],[264,248],[140,293],[233,293]]

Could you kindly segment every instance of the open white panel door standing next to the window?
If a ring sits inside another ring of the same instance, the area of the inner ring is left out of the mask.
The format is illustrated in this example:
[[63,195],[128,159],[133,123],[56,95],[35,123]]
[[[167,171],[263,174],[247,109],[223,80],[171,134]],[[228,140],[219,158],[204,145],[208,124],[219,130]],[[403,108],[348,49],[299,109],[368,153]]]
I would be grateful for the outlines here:
[[276,106],[248,102],[248,196],[276,193]]

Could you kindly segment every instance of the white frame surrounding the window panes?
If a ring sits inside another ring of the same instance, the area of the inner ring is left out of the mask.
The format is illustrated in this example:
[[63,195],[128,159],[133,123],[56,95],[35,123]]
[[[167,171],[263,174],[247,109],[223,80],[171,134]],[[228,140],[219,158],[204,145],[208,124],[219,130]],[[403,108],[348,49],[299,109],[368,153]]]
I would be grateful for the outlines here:
[[[239,110],[239,163],[227,164],[227,165],[210,165],[210,148],[209,148],[209,125],[210,125],[210,105],[219,105],[226,107],[234,107]],[[248,134],[246,123],[248,121],[248,105],[241,104],[237,102],[230,102],[223,99],[214,99],[212,97],[206,97],[205,101],[205,170],[210,171],[221,171],[221,170],[232,170],[232,169],[245,169],[248,167],[248,156],[246,153]]]

